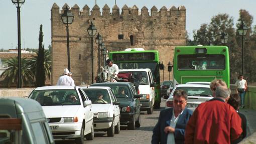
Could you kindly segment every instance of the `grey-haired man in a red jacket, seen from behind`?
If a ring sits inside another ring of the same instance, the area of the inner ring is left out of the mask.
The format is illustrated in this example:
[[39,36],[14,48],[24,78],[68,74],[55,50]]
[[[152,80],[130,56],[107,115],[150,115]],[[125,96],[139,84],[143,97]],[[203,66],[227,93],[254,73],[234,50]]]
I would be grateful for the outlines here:
[[241,118],[227,104],[230,90],[216,88],[215,98],[201,103],[185,129],[185,143],[230,143],[242,133]]

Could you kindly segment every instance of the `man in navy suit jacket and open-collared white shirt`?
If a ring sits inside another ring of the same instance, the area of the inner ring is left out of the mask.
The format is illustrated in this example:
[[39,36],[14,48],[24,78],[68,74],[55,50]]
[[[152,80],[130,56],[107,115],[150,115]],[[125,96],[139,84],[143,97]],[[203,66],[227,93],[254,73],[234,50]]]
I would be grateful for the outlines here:
[[185,128],[192,115],[187,104],[187,92],[177,90],[174,92],[173,108],[160,112],[158,122],[153,129],[151,143],[184,143]]

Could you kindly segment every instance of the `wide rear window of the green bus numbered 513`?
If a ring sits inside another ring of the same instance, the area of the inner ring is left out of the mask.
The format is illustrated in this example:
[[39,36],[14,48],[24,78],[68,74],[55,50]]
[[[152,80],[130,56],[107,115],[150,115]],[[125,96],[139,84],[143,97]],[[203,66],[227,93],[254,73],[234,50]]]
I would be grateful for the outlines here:
[[179,55],[179,70],[224,70],[224,55]]

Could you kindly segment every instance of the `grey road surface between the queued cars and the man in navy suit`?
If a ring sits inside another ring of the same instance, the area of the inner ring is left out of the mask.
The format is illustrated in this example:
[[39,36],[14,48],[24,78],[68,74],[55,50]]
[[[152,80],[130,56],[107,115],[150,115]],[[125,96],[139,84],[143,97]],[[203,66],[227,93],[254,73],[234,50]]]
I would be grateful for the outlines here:
[[[152,130],[157,123],[160,110],[164,109],[165,100],[162,101],[160,109],[154,109],[153,114],[147,114],[147,111],[141,112],[141,127],[136,130],[128,130],[127,126],[120,126],[120,133],[114,137],[107,137],[106,132],[97,131],[93,140],[85,140],[88,144],[102,143],[151,143]],[[75,143],[73,140],[56,140],[56,143]]]

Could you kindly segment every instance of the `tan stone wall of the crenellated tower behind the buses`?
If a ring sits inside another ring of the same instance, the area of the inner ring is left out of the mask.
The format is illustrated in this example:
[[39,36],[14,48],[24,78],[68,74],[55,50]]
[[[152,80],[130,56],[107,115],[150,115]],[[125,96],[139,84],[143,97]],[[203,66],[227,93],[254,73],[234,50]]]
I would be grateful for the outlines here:
[[[83,7],[82,11],[77,5],[71,8],[75,17],[73,23],[69,25],[70,66],[76,85],[91,83],[91,38],[87,33],[91,21],[97,28],[97,33],[103,37],[106,49],[109,51],[123,51],[126,48],[136,47],[145,50],[158,50],[160,60],[166,67],[164,80],[169,80],[167,64],[169,61],[171,63],[173,61],[174,47],[186,44],[186,9],[184,6],[177,9],[173,6],[170,10],[166,10],[164,7],[157,13],[155,13],[155,7],[150,10],[151,12],[147,12],[148,8],[144,7],[143,12],[137,13],[137,6],[129,9],[126,9],[125,6],[121,12],[118,10],[118,14],[117,6],[112,8],[114,14],[110,13],[107,5],[102,10],[98,10],[96,5],[93,8],[92,11],[89,11],[87,5]],[[51,10],[52,85],[57,83],[64,68],[68,67],[66,27],[61,21],[62,13],[63,7],[60,10],[56,4],[53,4]],[[149,14],[154,14],[154,16]],[[123,39],[118,39],[118,35],[123,35]],[[130,41],[131,35],[134,39],[133,46]],[[93,71],[96,76],[98,45],[94,39],[95,37],[93,38]],[[160,74],[162,81],[162,70]]]

